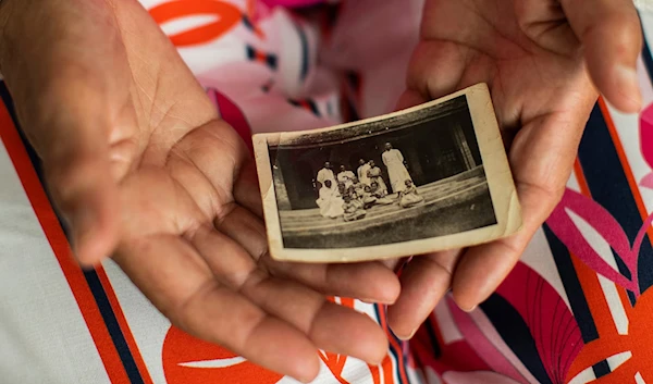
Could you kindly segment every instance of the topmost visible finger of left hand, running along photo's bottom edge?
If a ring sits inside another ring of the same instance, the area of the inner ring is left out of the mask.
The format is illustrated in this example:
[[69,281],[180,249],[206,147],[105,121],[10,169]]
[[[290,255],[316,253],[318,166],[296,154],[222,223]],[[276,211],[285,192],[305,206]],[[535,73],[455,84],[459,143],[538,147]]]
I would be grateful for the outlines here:
[[401,292],[396,274],[382,262],[305,264],[267,260],[273,274],[293,278],[326,296],[393,304]]

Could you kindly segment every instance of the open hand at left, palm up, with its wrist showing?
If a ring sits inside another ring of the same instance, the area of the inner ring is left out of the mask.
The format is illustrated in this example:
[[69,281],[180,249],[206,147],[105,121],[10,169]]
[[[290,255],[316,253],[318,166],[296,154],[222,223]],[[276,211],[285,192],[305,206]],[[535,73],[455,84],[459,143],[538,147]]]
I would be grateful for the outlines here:
[[173,324],[303,381],[385,334],[325,295],[392,302],[381,263],[267,256],[245,145],[134,0],[4,0],[0,69],[85,265],[113,258]]

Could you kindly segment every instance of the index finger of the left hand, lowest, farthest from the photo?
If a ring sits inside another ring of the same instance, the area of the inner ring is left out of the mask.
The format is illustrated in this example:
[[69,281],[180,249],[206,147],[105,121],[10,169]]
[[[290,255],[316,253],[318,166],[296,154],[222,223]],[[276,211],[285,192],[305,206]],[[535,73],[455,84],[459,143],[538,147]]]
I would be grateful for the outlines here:
[[133,240],[121,245],[114,260],[185,332],[303,382],[318,374],[317,346],[294,326],[220,285],[182,238],[158,235]]

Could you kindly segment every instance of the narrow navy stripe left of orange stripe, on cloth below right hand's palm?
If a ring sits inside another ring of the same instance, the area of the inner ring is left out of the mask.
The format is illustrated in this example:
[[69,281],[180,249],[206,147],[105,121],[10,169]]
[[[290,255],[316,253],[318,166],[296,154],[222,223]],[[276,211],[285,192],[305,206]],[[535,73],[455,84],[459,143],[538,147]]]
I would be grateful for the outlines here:
[[[551,248],[553,260],[555,261],[558,274],[560,276],[560,281],[565,287],[565,293],[569,299],[571,312],[574,313],[576,322],[578,323],[578,327],[580,329],[582,340],[584,344],[593,342],[599,338],[599,331],[596,330],[596,324],[592,318],[592,312],[590,312],[590,307],[588,306],[588,301],[583,295],[580,281],[576,275],[576,269],[571,262],[569,250],[553,234],[547,225],[544,225],[543,228],[544,234],[546,235],[546,240],[549,241],[549,248]],[[609,366],[606,361],[597,363],[593,367],[593,370],[596,377],[603,377],[611,372]]]

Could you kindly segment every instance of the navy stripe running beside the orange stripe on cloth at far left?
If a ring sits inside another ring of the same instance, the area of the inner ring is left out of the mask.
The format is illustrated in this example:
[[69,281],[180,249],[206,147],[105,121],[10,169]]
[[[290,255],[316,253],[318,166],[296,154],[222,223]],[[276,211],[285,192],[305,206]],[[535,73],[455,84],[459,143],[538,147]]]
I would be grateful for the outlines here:
[[[19,121],[16,119],[15,111],[14,111],[13,101],[11,99],[11,96],[9,94],[9,90],[7,89],[4,82],[0,82],[0,97],[2,98],[2,101],[7,106],[7,109],[13,119],[14,125],[16,126],[16,129],[19,131],[19,134],[21,135],[21,138],[23,139],[23,145],[25,146],[25,149],[27,150],[27,153],[29,154],[29,159],[32,160],[34,170],[37,173],[41,185],[44,185],[44,189],[46,190],[48,199],[50,199],[50,201],[51,201],[51,196],[50,196],[49,191],[47,190],[47,188],[45,187],[46,184],[44,181],[44,172],[42,172],[41,161],[38,158],[38,156],[36,154],[36,152],[34,151],[34,148],[32,147],[32,145],[27,141],[23,131],[20,128]],[[53,209],[54,209],[54,207],[53,207]],[[59,219],[59,223],[61,224],[61,227],[64,230],[66,236],[69,236],[69,231],[67,231],[64,222],[61,220],[61,215],[57,211],[56,211],[56,213],[57,213],[57,218]],[[113,342],[113,345],[115,346],[115,349],[118,350],[118,355],[123,363],[123,367],[125,368],[125,372],[127,373],[127,376],[130,377],[131,383],[132,384],[144,383],[144,380],[140,376],[140,372],[138,371],[138,367],[136,366],[136,361],[134,360],[134,357],[132,356],[132,352],[130,350],[127,342],[120,329],[115,313],[113,312],[113,309],[111,308],[111,304],[109,302],[109,298],[107,297],[107,293],[104,292],[102,284],[100,283],[100,278],[99,278],[97,272],[85,271],[84,277],[86,277],[86,283],[88,284],[88,287],[90,288],[90,292],[95,298],[95,301],[98,305],[98,309],[100,311],[100,314],[102,315],[102,320],[104,321],[104,324],[107,325],[107,330],[109,331],[111,340]]]

